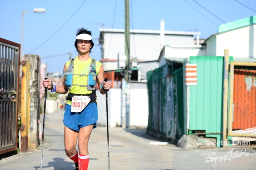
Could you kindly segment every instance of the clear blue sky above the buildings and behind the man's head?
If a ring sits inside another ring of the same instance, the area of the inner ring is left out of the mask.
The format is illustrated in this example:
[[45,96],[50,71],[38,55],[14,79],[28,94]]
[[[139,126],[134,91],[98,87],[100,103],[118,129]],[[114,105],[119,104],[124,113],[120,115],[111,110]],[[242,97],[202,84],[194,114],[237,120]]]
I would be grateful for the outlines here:
[[[130,29],[160,30],[163,19],[165,30],[199,31],[200,38],[208,38],[224,22],[256,15],[256,0],[237,1],[130,0]],[[74,41],[78,28],[92,31],[95,46],[90,56],[97,61],[99,28],[124,29],[124,0],[0,0],[0,37],[20,43],[22,10],[34,8],[46,12],[24,14],[23,52],[39,55],[48,64],[48,72],[62,72],[69,58],[48,56],[77,56]]]

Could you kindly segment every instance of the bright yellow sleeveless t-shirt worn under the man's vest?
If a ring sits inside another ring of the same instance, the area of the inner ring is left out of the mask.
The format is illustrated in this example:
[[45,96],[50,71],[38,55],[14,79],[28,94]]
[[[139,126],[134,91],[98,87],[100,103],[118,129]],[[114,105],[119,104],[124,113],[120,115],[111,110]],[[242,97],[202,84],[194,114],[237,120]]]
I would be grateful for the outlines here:
[[[74,59],[74,74],[89,74],[90,64],[91,64],[92,58],[90,57],[87,61],[80,61],[78,57]],[[70,61],[66,62],[66,69],[68,69]],[[100,71],[100,66],[102,66],[102,63],[96,61],[96,74],[98,75]],[[72,84],[78,84],[78,85],[85,85],[87,86],[88,76],[80,76],[80,75],[73,75],[73,82]],[[70,93],[73,94],[91,94],[92,91],[88,91],[86,87],[82,86],[76,86],[73,85],[70,89]],[[68,100],[68,103],[71,105],[71,102]]]

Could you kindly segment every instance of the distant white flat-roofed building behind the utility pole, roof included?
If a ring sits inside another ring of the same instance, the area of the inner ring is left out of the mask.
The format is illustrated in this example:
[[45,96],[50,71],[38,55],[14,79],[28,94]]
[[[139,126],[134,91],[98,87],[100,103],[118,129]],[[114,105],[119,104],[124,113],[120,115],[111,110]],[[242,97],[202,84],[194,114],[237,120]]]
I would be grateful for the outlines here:
[[[130,30],[131,60],[132,58],[136,59],[138,64],[148,61],[155,61],[157,63],[158,56],[166,44],[176,46],[191,46],[196,42],[196,45],[199,45],[199,35],[201,34],[200,32],[165,31],[164,21],[162,20],[160,23],[160,30]],[[118,65],[121,65],[120,63],[124,63],[126,61],[126,57],[124,56],[124,29],[100,28],[99,30],[99,42],[101,44],[102,50],[101,62],[104,66],[104,70],[108,71],[120,69]],[[195,37],[196,40],[194,40]],[[152,63],[150,64],[152,65]],[[158,66],[156,66],[156,68],[158,68]],[[140,69],[143,69],[144,73],[146,73],[147,71],[154,68],[143,64],[143,66],[140,66]],[[142,78],[146,77],[146,74],[144,73],[141,74]]]

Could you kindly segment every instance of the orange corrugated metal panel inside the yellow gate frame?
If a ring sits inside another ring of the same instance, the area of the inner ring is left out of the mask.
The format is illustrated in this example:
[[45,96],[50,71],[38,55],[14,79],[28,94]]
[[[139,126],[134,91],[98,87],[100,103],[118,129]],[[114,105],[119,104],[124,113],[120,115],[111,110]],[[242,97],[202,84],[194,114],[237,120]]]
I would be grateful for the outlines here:
[[234,69],[232,129],[253,128],[256,127],[256,70],[238,68]]

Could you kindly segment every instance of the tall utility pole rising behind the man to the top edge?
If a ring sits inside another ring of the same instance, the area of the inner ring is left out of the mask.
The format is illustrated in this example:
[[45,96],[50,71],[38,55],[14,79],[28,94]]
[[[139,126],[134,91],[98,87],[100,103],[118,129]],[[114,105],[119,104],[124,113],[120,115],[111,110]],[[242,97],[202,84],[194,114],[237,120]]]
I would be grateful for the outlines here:
[[125,54],[126,54],[126,72],[124,78],[127,83],[127,94],[126,94],[126,128],[130,126],[130,81],[131,81],[131,63],[130,63],[130,0],[124,0],[124,41],[125,41]]

